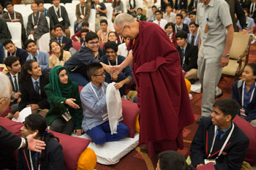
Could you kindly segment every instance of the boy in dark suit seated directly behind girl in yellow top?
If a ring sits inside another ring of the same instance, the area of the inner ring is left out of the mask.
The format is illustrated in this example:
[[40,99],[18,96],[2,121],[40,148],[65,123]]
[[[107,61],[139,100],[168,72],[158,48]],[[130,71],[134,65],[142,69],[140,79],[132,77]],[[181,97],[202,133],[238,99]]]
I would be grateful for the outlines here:
[[[69,49],[72,47],[72,39],[69,39],[67,36],[64,36],[64,28],[60,24],[57,24],[54,27],[54,31],[56,34],[56,37],[53,38],[61,44],[61,47],[63,50],[69,51]],[[53,41],[53,39],[50,39],[50,41]]]

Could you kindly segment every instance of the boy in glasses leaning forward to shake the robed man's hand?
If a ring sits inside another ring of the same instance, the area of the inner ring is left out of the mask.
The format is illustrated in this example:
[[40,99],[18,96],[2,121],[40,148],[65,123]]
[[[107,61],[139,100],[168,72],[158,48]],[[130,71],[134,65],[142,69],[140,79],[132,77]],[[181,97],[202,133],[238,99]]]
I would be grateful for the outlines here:
[[[89,82],[86,69],[90,63],[99,63],[102,56],[102,50],[99,48],[99,36],[94,32],[86,34],[85,46],[82,46],[64,66],[69,71],[69,76],[73,82],[78,82],[78,85],[85,86]],[[110,72],[109,66],[100,62],[103,68]]]

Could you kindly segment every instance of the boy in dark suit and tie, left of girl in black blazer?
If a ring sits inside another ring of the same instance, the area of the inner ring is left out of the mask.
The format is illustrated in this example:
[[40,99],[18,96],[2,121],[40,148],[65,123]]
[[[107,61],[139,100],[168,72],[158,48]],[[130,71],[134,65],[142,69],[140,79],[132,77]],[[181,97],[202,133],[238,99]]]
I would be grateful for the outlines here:
[[7,58],[5,58],[4,64],[9,70],[7,76],[9,77],[12,85],[12,101],[10,103],[10,106],[12,106],[12,110],[7,115],[7,118],[12,119],[13,114],[18,111],[18,104],[20,103],[21,99],[21,84],[19,81],[21,66],[19,58],[16,56],[8,56]]

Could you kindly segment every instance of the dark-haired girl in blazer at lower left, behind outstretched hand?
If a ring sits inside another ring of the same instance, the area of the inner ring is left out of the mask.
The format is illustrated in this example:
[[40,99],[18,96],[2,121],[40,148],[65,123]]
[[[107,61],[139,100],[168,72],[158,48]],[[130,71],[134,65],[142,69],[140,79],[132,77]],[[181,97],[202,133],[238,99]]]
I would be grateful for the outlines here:
[[[36,114],[26,117],[21,130],[23,137],[37,132],[35,139],[45,142],[46,147],[42,152],[34,152],[28,149],[18,150],[18,170],[21,169],[54,169],[65,170],[64,154],[59,139],[45,131],[47,128],[44,117]],[[57,141],[57,140],[58,141]],[[31,167],[33,166],[33,167]]]

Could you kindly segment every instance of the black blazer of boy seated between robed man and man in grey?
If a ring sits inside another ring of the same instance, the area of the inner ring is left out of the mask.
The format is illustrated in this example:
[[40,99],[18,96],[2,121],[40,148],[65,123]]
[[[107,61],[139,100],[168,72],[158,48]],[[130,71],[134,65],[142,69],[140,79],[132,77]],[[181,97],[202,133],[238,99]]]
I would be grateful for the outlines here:
[[[183,58],[181,57],[181,47],[177,46],[179,56],[181,58],[181,66]],[[185,51],[185,63],[184,63],[184,71],[188,72],[191,69],[197,69],[197,53],[198,47],[195,45],[190,45],[187,43],[186,51]]]

